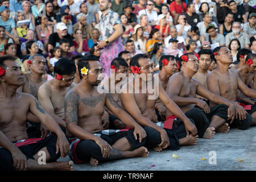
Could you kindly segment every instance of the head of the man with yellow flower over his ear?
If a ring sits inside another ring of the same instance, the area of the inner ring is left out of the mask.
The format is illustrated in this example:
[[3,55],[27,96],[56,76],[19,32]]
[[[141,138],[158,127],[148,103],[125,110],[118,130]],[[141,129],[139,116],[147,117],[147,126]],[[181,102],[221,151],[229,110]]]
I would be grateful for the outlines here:
[[92,86],[100,84],[101,80],[98,77],[101,76],[102,66],[96,56],[89,55],[78,59],[77,67],[81,80],[85,80]]

